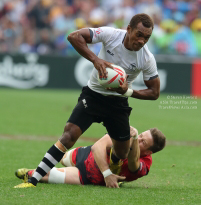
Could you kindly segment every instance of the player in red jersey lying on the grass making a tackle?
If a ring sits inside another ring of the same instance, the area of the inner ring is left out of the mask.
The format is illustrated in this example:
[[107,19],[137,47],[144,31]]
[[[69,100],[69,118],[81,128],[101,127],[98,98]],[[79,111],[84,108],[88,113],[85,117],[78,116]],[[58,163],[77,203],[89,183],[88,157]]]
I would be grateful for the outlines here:
[[[53,168],[40,181],[56,184],[106,185],[118,188],[117,180],[134,181],[146,176],[152,165],[151,154],[165,147],[166,138],[157,128],[147,130],[138,136],[138,131],[130,127],[130,135],[128,158],[121,160],[118,165],[111,162],[112,141],[106,134],[93,146],[74,148],[66,152],[61,160],[66,168]],[[108,169],[114,174],[107,171],[104,174],[104,170]],[[18,169],[16,176],[20,179],[30,178],[34,171]],[[109,175],[110,177],[107,177]]]

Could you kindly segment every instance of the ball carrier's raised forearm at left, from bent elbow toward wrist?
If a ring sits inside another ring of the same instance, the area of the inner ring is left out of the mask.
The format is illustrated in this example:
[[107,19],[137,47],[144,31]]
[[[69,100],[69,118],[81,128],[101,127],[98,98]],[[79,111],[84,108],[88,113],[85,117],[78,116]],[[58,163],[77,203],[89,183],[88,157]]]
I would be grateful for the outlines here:
[[87,60],[92,63],[98,58],[87,46],[83,36],[77,32],[73,32],[68,36],[68,41],[75,48],[75,50]]

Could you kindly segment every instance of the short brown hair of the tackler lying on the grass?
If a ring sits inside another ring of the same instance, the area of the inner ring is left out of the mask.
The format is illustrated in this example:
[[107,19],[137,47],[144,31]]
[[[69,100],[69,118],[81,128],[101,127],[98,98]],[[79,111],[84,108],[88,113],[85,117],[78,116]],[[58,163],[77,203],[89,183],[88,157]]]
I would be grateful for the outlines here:
[[165,147],[166,137],[157,128],[151,128],[150,132],[151,132],[152,138],[154,140],[154,144],[151,147],[149,147],[149,150],[151,150],[152,153],[156,153]]

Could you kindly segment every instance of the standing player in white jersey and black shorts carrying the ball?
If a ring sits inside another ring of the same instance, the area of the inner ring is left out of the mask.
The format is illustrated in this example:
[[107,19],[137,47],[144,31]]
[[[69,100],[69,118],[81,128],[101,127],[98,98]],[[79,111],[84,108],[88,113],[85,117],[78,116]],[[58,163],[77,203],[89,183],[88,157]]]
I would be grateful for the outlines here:
[[[93,63],[94,69],[61,138],[47,151],[29,182],[17,188],[35,187],[94,122],[103,122],[112,139],[112,161],[118,164],[120,159],[127,158],[130,147],[129,116],[132,110],[128,105],[128,97],[156,100],[160,93],[156,61],[146,45],[153,27],[148,15],[137,14],[131,19],[127,30],[85,28],[68,36],[77,52]],[[87,43],[98,42],[102,42],[102,48],[96,56]],[[111,63],[124,68],[128,79],[119,88],[106,90],[99,84],[97,74],[106,78],[106,67],[113,68]],[[132,90],[132,82],[140,72],[143,73],[147,89]]]

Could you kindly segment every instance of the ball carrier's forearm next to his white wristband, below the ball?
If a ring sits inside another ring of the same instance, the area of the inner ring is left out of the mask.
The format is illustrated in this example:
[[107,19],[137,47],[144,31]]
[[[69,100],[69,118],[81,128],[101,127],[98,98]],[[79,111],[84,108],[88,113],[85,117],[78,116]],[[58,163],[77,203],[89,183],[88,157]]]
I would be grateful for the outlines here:
[[157,100],[160,95],[159,91],[152,89],[145,90],[133,90],[131,97],[141,99],[141,100]]

